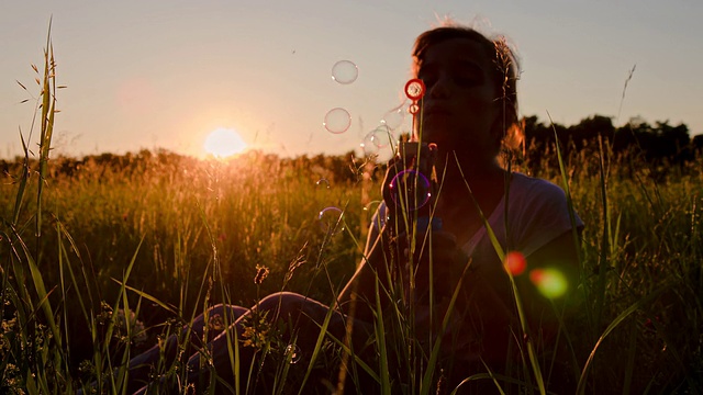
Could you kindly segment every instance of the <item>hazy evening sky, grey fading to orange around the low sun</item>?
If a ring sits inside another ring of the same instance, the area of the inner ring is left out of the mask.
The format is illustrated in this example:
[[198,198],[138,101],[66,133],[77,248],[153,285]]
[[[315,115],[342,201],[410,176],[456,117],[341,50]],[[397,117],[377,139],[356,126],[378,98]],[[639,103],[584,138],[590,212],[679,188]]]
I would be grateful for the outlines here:
[[[0,4],[0,157],[20,153],[49,18],[56,153],[166,148],[202,156],[236,129],[284,156],[343,154],[401,104],[414,37],[449,15],[505,34],[522,60],[521,113],[571,125],[599,114],[703,133],[700,0],[5,0]],[[358,67],[333,81],[338,60]],[[623,87],[635,72],[622,102]],[[352,125],[323,127],[344,108]],[[620,116],[618,116],[620,111]],[[34,132],[38,134],[37,131]]]

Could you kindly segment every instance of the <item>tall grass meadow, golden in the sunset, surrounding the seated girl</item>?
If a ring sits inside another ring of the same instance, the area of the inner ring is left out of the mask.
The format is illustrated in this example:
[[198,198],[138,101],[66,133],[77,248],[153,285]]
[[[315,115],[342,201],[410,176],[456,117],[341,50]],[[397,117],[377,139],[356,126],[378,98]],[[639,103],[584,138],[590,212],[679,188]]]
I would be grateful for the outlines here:
[[[361,259],[382,165],[352,155],[282,159],[256,151],[230,160],[165,151],[52,158],[52,57],[40,76],[41,146],[5,163],[0,185],[0,392],[74,393],[94,382],[98,393],[122,393],[129,358],[213,304],[252,306],[281,290],[334,301]],[[529,156],[539,162],[513,168],[538,169],[565,188],[587,225],[580,282],[570,284],[582,303],[560,334],[577,392],[699,393],[703,158],[654,168],[636,149],[613,154],[607,140],[561,154],[553,145]],[[321,215],[327,207],[338,208],[325,212],[332,222]],[[388,317],[392,325],[402,318]],[[247,347],[241,340],[231,347]],[[413,341],[376,340],[388,349]],[[312,371],[332,380],[348,357],[344,345],[321,342],[320,353],[298,362],[287,345],[261,342],[263,358],[283,354],[267,362],[276,374],[265,384],[243,379],[237,394],[308,393]],[[413,356],[390,372],[383,347],[377,360],[347,362],[368,370],[380,393],[435,393],[440,374],[432,359]],[[467,380],[495,382],[506,393],[548,393],[555,362],[540,354],[514,376],[477,372]],[[154,377],[178,382],[183,374],[176,361]]]

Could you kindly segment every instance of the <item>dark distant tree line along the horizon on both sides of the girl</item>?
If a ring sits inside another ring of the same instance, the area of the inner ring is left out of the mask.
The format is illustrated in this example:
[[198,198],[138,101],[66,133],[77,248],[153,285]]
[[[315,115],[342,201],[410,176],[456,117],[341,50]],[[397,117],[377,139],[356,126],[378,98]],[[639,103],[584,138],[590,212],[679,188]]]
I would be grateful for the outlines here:
[[[690,169],[690,165],[703,153],[703,135],[691,137],[685,124],[671,125],[668,121],[649,124],[641,119],[633,119],[626,125],[616,127],[611,117],[593,115],[581,120],[578,124],[565,126],[542,122],[533,115],[523,119],[523,129],[525,140],[518,160],[523,167],[535,174],[539,174],[545,167],[558,168],[558,159],[554,155],[556,142],[565,158],[574,155],[588,158],[605,153],[612,158],[627,158],[631,163],[649,166],[658,176]],[[274,154],[249,151],[239,158],[255,159],[261,166],[276,163],[293,170],[312,171],[313,178],[334,179],[337,182],[359,181],[361,168],[366,161],[354,150],[338,156],[320,154],[302,155],[295,158],[280,158]],[[0,159],[0,171],[5,177],[18,174],[24,160],[26,159],[23,157],[16,157],[14,160]],[[32,158],[29,160],[34,161]],[[143,149],[135,154],[104,153],[80,159],[59,156],[52,161],[52,176],[76,177],[89,170],[121,172],[129,176],[143,172],[155,165],[175,169],[192,167],[199,160],[164,149],[156,151]],[[378,177],[378,169],[373,173]]]

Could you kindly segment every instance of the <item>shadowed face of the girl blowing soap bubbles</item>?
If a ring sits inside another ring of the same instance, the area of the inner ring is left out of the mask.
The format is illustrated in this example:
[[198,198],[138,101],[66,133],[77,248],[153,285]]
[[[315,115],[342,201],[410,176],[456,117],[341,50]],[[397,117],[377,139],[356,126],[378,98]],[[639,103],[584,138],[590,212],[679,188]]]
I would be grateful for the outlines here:
[[494,68],[486,49],[470,38],[428,47],[417,69],[426,87],[419,138],[477,165],[493,161],[501,132]]

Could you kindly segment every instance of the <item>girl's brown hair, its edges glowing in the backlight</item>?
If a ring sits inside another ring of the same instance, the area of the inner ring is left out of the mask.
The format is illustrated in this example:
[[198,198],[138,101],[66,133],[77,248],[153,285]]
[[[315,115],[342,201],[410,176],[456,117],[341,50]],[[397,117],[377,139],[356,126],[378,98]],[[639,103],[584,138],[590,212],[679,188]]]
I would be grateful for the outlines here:
[[500,100],[503,109],[502,138],[496,147],[510,153],[517,151],[523,146],[524,135],[522,124],[517,115],[517,79],[520,77],[520,65],[517,58],[509,46],[504,36],[489,38],[478,31],[456,24],[445,22],[442,26],[422,33],[415,40],[413,48],[412,74],[414,77],[420,71],[420,65],[425,58],[427,49],[432,46],[453,38],[471,40],[486,50],[488,58],[495,65],[492,72],[495,90],[500,92]]

